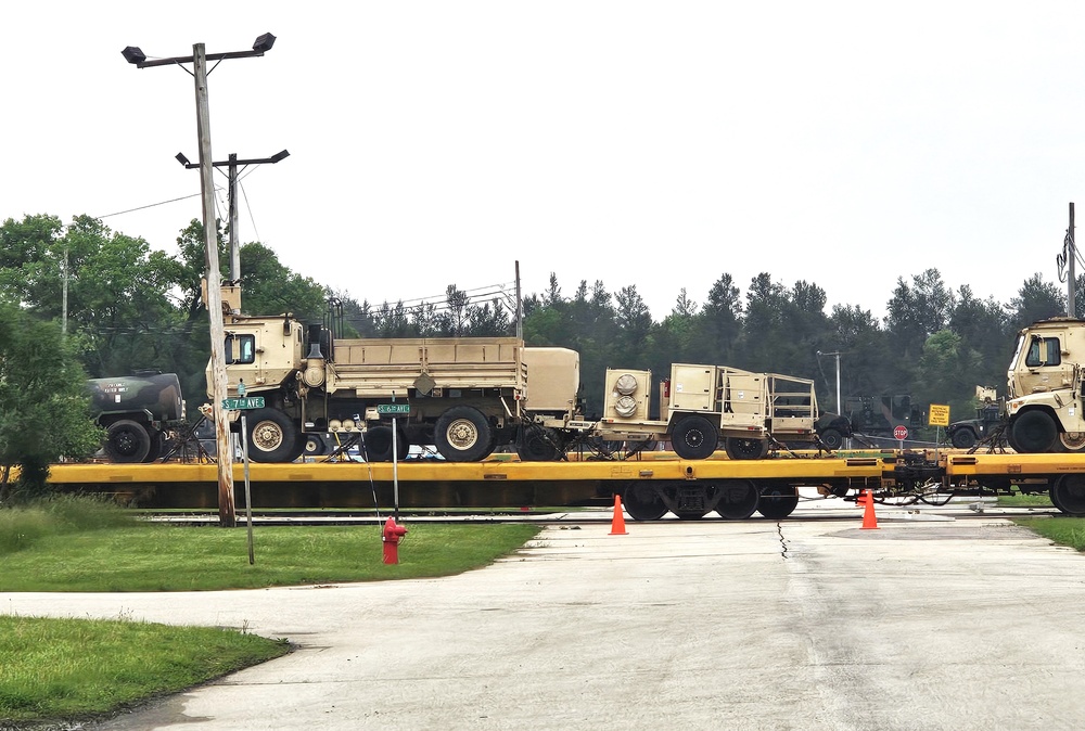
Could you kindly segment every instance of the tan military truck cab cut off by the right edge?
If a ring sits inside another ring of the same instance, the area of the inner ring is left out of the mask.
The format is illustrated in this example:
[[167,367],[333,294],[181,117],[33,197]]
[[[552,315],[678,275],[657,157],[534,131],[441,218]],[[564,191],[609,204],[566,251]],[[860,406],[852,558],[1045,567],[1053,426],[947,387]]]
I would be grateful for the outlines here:
[[1013,451],[1085,451],[1085,321],[1051,318],[1018,332],[1007,371],[1007,440]]

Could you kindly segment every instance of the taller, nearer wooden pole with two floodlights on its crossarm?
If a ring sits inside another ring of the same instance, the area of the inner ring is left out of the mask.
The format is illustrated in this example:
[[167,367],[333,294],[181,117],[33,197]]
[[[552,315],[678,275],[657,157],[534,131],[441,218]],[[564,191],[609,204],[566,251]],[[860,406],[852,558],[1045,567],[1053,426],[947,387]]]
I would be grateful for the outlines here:
[[196,137],[200,145],[200,190],[203,202],[204,244],[206,246],[207,287],[206,305],[210,321],[210,368],[212,368],[212,411],[215,420],[215,437],[218,463],[218,517],[222,527],[238,525],[233,503],[233,446],[230,443],[229,412],[225,408],[228,394],[226,377],[226,326],[222,312],[221,274],[218,264],[218,227],[215,225],[214,164],[210,154],[210,111],[207,103],[207,61],[225,59],[246,59],[261,56],[271,50],[275,36],[264,34],[253,43],[252,51],[207,54],[203,43],[192,47],[192,55],[187,57],[156,59],[148,61],[138,47],[129,46],[122,51],[125,61],[137,68],[150,66],[192,64],[196,94]]

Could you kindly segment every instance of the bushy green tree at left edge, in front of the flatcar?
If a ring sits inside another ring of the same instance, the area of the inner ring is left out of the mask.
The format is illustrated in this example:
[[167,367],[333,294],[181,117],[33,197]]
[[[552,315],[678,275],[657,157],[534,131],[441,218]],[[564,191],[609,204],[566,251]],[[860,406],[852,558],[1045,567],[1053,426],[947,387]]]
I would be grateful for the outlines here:
[[[55,322],[0,305],[0,502],[47,491],[49,465],[101,444],[87,376]],[[20,477],[9,482],[12,466]]]

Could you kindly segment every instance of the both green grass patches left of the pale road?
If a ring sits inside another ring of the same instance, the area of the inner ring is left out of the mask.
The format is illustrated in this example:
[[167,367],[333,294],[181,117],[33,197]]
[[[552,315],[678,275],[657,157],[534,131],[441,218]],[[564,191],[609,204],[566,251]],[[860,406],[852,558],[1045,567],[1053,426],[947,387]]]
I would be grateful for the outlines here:
[[[492,563],[527,524],[407,524],[399,563],[381,529],[179,527],[101,501],[0,510],[0,591],[209,591],[446,576]],[[132,621],[0,615],[0,729],[108,715],[289,652],[288,639]]]

